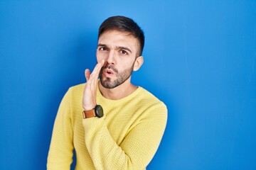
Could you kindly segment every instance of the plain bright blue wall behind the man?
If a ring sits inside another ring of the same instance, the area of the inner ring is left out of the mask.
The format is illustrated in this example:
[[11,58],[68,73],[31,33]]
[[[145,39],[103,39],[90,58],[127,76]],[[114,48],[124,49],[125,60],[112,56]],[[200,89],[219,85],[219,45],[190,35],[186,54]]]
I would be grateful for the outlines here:
[[96,63],[97,29],[146,35],[132,82],[166,103],[148,169],[256,169],[256,1],[0,1],[0,169],[46,169],[58,106]]

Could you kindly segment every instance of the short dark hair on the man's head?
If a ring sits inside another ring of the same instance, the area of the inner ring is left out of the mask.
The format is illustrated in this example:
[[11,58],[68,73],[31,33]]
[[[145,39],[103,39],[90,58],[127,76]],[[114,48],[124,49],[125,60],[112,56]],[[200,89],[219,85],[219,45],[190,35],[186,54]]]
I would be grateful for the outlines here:
[[125,16],[111,16],[110,18],[107,18],[100,25],[98,40],[100,38],[100,35],[108,30],[119,30],[133,35],[134,38],[137,38],[137,40],[139,41],[138,56],[142,55],[145,41],[144,32],[142,28],[140,28],[138,24],[135,23],[131,18],[127,18]]

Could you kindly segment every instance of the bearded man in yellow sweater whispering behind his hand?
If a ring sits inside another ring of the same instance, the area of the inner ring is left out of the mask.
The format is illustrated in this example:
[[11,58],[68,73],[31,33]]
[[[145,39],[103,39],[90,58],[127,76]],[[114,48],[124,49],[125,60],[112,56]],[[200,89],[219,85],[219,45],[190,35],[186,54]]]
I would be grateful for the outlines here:
[[[164,134],[163,102],[131,83],[143,64],[144,33],[132,19],[107,18],[100,26],[97,65],[86,84],[71,87],[60,103],[48,169],[146,169]],[[100,77],[100,80],[98,79]]]

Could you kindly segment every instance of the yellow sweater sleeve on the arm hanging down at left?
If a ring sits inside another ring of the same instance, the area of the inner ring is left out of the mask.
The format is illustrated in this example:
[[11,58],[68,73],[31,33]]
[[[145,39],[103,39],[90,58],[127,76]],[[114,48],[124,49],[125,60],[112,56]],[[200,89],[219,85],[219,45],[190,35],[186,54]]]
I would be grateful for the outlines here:
[[70,112],[70,90],[65,94],[60,103],[55,118],[53,135],[48,152],[47,169],[70,169],[73,162],[73,128]]

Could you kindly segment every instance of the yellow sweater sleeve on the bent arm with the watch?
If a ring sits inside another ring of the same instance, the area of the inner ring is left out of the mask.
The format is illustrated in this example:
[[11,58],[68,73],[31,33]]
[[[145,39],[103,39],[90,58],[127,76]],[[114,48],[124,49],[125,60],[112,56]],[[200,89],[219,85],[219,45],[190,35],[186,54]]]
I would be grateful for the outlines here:
[[105,117],[82,120],[85,128],[85,144],[95,169],[146,168],[164,134],[167,109],[162,103],[160,106],[149,108],[143,114],[143,118],[127,132],[120,145],[112,139]]

